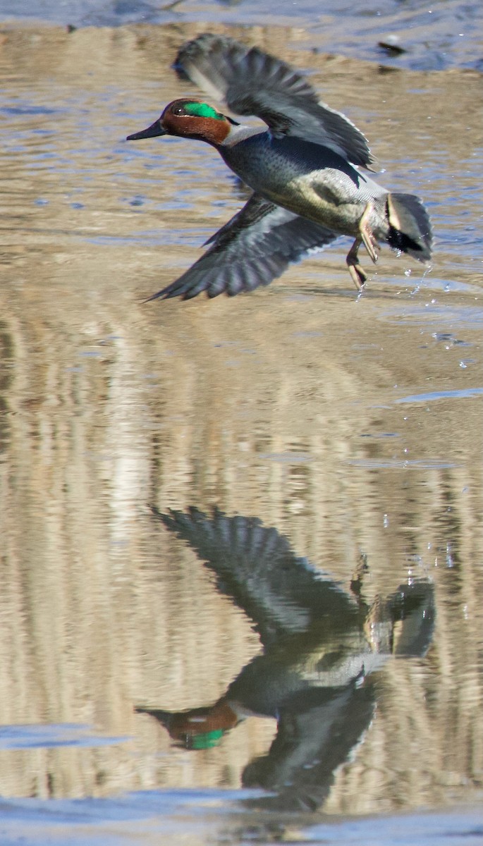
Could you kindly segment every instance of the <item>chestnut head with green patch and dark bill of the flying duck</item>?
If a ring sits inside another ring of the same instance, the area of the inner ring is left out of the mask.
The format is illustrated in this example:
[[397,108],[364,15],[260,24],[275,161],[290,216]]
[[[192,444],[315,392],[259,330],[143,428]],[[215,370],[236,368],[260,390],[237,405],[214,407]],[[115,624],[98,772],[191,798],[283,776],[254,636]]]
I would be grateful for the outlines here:
[[128,135],[126,140],[178,135],[180,138],[195,138],[217,146],[229,135],[233,124],[234,120],[217,112],[208,103],[200,100],[173,100],[154,124],[134,132],[134,135]]

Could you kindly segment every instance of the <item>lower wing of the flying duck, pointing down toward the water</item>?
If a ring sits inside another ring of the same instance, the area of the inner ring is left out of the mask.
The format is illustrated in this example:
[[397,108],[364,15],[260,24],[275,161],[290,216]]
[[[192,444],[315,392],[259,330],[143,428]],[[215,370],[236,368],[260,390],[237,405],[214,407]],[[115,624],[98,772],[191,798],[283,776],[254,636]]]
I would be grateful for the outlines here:
[[252,291],[279,277],[310,250],[338,235],[254,194],[206,244],[209,250],[175,282],[149,299],[192,299]]

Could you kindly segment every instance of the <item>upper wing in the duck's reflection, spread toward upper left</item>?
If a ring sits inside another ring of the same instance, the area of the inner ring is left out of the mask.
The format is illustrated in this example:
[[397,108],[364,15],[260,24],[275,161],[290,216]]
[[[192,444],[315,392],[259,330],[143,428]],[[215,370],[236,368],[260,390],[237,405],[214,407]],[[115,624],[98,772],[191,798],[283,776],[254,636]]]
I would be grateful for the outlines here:
[[306,558],[296,558],[287,538],[255,517],[212,518],[190,508],[156,517],[188,541],[217,575],[217,588],[255,623],[264,645],[283,634],[305,632],[316,620],[331,618],[350,629],[358,608],[348,594]]

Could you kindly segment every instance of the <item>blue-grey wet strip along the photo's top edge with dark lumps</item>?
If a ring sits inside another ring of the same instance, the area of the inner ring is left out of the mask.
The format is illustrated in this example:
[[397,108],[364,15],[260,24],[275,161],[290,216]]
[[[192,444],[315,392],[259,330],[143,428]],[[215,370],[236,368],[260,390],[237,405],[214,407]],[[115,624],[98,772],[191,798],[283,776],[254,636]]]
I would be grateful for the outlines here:
[[483,69],[483,8],[468,0],[0,0],[4,19],[71,26],[196,23],[294,27],[305,49],[417,70]]

